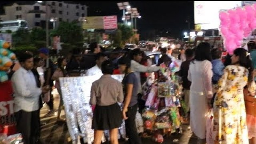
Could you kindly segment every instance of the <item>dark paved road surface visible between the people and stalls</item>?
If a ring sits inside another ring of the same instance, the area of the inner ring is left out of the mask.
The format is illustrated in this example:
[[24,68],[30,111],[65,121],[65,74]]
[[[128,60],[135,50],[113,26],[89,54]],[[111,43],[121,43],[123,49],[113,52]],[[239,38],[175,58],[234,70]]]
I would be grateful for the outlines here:
[[[59,103],[58,95],[54,96],[54,107],[57,109]],[[57,112],[50,116],[45,116],[48,112],[48,106],[44,105],[40,112],[41,123],[45,123],[41,128],[41,141],[43,144],[71,144],[66,123],[56,122]],[[62,111],[62,115],[64,111]],[[168,138],[164,138],[162,144],[196,144],[196,137],[192,136],[192,132],[188,130],[188,126],[183,126],[182,134],[172,134]],[[178,142],[174,142],[178,140]],[[151,138],[142,138],[143,144],[156,144]],[[105,142],[104,144],[110,144]],[[126,144],[120,140],[120,144]]]

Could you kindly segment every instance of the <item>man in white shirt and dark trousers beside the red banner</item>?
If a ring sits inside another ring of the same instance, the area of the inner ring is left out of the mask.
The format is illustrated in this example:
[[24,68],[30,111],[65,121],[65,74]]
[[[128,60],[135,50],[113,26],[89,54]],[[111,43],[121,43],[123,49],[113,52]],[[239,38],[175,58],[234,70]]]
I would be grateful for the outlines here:
[[24,144],[36,144],[39,124],[39,96],[46,93],[50,87],[38,88],[36,78],[31,71],[33,56],[24,53],[18,58],[21,67],[12,76],[14,90],[14,114],[17,131],[22,134]]

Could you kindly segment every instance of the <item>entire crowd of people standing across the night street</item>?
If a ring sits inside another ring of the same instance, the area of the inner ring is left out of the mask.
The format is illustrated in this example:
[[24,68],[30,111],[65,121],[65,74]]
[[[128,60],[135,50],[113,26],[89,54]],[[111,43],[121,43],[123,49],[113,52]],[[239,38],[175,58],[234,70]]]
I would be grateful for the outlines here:
[[[214,144],[248,144],[252,138],[255,144],[256,117],[246,115],[244,88],[254,95],[255,43],[250,43],[251,53],[243,48],[234,50],[225,64],[221,51],[202,42],[196,48],[181,50],[178,57],[182,61],[178,74],[182,77],[184,100],[189,107],[186,118],[190,118],[191,130],[198,137],[198,144],[205,144],[206,116],[213,109]],[[118,144],[118,128],[125,120],[129,144],[142,144],[138,136],[135,116],[145,107],[142,100],[142,84],[147,73],[160,70],[160,64],[167,66],[175,61],[171,48],[160,48],[162,57],[156,66],[140,49],[122,50],[107,56],[101,52],[96,42],[90,44],[91,55],[82,56],[74,49],[70,57],[57,60],[55,68],[49,58],[49,50],[41,48],[40,57],[31,52],[18,56],[18,63],[12,66],[9,78],[14,89],[14,112],[17,130],[22,133],[24,144],[37,144],[40,138],[40,109],[43,102],[49,106],[49,114],[54,112],[52,87],[60,94],[57,120],[64,108],[60,89],[60,77],[73,76],[72,70],[87,69],[85,75],[102,75],[92,84],[90,104],[95,107],[92,128],[94,144],[100,144],[104,130],[110,130],[111,144]],[[251,55],[251,56],[250,56]],[[121,82],[112,74],[124,74]],[[121,107],[118,103],[122,103]],[[247,118],[247,119],[246,119]],[[247,122],[246,122],[247,120]],[[252,122],[253,121],[253,122]],[[254,142],[254,143],[253,143]]]

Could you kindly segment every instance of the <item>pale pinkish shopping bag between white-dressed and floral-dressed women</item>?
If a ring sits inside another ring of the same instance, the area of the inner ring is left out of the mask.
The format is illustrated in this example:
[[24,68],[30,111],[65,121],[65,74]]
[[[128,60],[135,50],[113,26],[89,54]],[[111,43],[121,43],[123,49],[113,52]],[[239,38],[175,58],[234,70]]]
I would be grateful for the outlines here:
[[212,109],[209,110],[207,117],[206,117],[206,143],[213,144],[213,112]]

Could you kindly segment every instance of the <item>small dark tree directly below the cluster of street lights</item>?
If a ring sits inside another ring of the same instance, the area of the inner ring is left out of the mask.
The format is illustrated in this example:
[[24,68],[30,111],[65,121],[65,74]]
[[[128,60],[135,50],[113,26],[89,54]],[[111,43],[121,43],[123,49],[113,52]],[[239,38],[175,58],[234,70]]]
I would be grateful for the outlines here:
[[122,32],[122,43],[125,43],[133,35],[132,28],[130,26],[118,23],[118,30],[121,30]]

